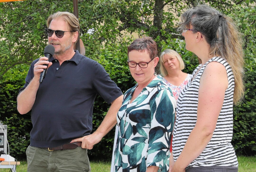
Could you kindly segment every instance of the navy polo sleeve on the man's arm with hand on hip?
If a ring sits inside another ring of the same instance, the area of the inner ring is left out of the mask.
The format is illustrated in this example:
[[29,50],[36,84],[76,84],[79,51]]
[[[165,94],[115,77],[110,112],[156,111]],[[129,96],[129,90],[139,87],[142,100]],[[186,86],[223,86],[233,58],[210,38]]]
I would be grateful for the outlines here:
[[116,98],[123,95],[116,83],[110,79],[109,74],[98,62],[94,64],[93,86],[98,95],[100,95],[108,104]]

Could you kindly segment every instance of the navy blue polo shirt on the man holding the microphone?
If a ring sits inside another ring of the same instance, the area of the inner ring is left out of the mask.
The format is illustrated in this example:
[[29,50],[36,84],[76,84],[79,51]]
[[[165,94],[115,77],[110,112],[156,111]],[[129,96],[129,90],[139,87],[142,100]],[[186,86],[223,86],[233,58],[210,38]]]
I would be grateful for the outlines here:
[[[50,59],[52,66],[39,85],[31,111],[31,146],[56,147],[90,134],[96,95],[103,97],[108,104],[122,95],[99,63],[75,52],[61,66],[57,59]],[[31,64],[26,83],[19,92],[34,77],[34,64],[38,60]]]

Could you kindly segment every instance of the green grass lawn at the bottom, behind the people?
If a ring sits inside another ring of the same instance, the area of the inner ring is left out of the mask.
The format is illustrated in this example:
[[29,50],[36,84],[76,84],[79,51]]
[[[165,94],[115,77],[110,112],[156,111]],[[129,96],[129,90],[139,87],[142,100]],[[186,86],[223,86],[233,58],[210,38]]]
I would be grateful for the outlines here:
[[[110,162],[95,162],[91,163],[91,172],[110,172]],[[238,157],[238,171],[239,172],[256,172],[256,156]],[[0,169],[0,172],[9,172],[10,169]],[[26,172],[27,171],[27,162],[20,162],[20,165],[17,166],[17,172]]]

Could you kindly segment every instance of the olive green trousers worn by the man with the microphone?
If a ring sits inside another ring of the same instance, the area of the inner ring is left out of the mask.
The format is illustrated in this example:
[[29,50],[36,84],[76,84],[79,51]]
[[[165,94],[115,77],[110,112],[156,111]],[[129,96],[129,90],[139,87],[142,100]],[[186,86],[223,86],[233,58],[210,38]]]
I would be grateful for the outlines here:
[[91,172],[87,149],[48,151],[28,146],[28,172]]

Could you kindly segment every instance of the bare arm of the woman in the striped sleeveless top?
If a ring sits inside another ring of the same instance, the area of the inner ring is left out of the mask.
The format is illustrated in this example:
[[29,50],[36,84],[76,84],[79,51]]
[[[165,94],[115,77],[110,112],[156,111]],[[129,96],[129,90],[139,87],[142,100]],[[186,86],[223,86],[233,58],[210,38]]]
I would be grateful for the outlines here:
[[171,172],[184,172],[206,148],[216,128],[227,87],[226,68],[218,62],[209,63],[200,79],[196,125]]

